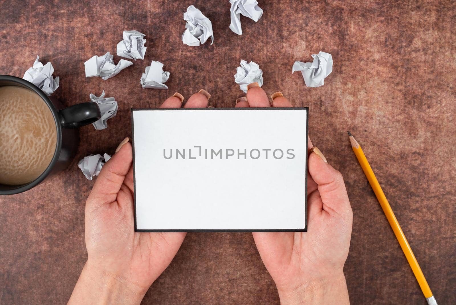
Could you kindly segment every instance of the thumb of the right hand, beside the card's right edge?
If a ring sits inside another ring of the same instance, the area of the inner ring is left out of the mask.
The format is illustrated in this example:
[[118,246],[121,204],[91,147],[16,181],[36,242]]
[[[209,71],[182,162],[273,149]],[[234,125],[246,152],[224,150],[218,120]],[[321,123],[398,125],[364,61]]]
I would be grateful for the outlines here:
[[323,210],[332,216],[351,216],[352,208],[342,174],[327,163],[317,147],[312,147],[309,151],[308,162],[309,174],[318,186]]

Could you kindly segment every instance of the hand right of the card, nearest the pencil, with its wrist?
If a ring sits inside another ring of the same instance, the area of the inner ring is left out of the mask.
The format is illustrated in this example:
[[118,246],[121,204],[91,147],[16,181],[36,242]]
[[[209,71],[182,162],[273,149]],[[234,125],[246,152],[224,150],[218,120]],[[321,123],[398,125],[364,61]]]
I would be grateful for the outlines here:
[[[271,106],[263,89],[249,87],[236,107]],[[291,107],[281,93],[272,98],[273,107]],[[254,232],[255,244],[282,304],[349,304],[343,265],[350,246],[352,209],[345,184],[318,149],[310,153],[308,168],[307,232]]]

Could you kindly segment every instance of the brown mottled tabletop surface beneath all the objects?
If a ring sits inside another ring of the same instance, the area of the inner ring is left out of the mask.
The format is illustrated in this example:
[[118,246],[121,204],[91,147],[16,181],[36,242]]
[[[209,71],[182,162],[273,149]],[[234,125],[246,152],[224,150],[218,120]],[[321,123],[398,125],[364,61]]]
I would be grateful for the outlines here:
[[[155,108],[175,91],[188,98],[201,88],[212,94],[211,105],[231,107],[242,94],[233,74],[245,59],[263,69],[268,94],[281,90],[293,105],[310,107],[311,139],[344,175],[354,215],[345,265],[352,304],[425,300],[347,129],[364,147],[439,304],[456,304],[454,2],[260,0],[264,15],[257,23],[241,17],[242,36],[228,28],[228,0],[207,2],[0,1],[0,74],[22,77],[40,55],[60,76],[54,96],[63,105],[103,89],[119,102],[107,129],[81,128],[78,155],[67,170],[0,198],[0,303],[67,301],[87,257],[84,203],[93,185],[77,162],[114,153],[130,136],[131,107]],[[192,4],[212,20],[212,46],[181,42],[182,13]],[[146,34],[145,60],[107,81],[85,78],[84,61],[115,54],[124,30]],[[291,66],[320,50],[332,54],[333,72],[324,86],[307,88]],[[140,87],[151,60],[171,72],[169,90]],[[250,233],[188,234],[143,301],[277,302]]]

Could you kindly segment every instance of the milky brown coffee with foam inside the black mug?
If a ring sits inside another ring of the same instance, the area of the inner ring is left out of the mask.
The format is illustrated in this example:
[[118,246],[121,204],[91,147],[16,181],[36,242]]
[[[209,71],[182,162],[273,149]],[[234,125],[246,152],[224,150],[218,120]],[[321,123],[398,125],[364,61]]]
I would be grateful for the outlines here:
[[0,87],[0,184],[29,183],[51,163],[57,143],[52,112],[35,92]]

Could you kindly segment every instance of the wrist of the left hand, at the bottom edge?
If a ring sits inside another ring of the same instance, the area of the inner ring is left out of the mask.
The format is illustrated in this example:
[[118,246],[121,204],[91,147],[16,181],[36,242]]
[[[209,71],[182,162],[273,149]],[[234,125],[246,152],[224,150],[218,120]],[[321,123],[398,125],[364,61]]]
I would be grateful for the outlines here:
[[87,261],[68,304],[140,304],[146,292]]

